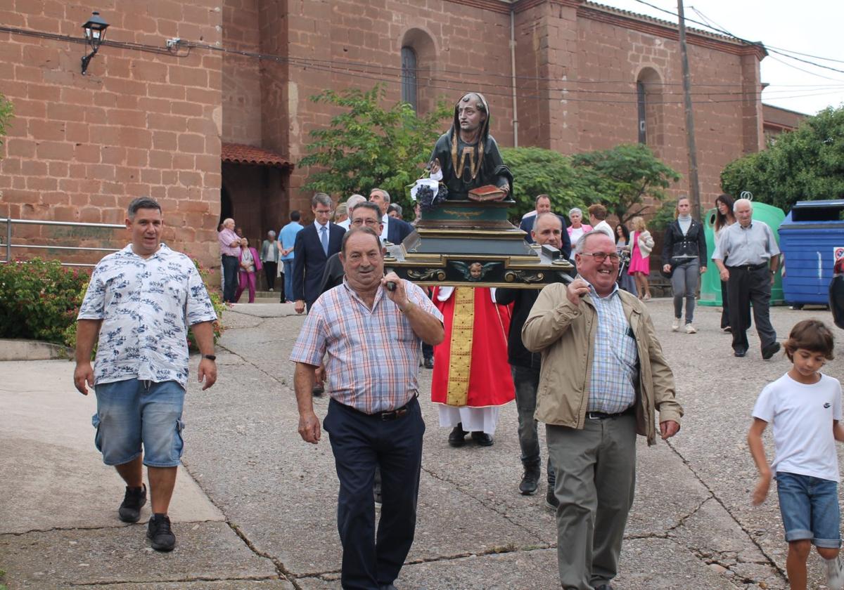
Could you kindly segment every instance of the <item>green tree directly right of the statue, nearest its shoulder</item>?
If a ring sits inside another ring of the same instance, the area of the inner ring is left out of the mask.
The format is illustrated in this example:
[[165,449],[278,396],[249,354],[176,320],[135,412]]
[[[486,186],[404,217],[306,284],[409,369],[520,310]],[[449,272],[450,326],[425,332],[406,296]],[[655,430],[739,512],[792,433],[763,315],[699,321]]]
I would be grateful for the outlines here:
[[551,196],[554,211],[563,214],[586,204],[584,186],[568,156],[544,148],[502,148],[501,158],[513,173],[514,217],[533,209],[537,195]]

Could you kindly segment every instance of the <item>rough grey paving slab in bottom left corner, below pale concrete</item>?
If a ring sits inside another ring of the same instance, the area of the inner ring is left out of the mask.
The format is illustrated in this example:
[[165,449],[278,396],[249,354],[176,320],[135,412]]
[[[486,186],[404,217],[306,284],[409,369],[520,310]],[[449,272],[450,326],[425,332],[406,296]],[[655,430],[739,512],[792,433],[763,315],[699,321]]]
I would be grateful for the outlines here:
[[273,562],[255,555],[225,523],[174,525],[176,549],[149,546],[146,527],[56,530],[0,535],[4,582],[12,588],[148,584],[279,578]]

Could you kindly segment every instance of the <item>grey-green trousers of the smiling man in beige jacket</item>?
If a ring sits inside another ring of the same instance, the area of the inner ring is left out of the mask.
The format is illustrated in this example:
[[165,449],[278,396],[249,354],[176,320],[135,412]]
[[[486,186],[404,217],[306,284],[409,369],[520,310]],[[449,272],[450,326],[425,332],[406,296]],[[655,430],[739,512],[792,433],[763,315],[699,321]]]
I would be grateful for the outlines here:
[[560,585],[592,590],[618,573],[636,489],[636,416],[587,418],[583,430],[547,424],[545,436],[560,501]]

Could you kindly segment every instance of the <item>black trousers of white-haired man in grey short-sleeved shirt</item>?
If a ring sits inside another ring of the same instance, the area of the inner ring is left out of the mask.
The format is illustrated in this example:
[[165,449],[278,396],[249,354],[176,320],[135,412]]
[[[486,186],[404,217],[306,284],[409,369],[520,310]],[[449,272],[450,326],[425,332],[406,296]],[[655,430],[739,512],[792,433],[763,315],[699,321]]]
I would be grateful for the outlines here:
[[750,327],[750,304],[753,303],[753,321],[759,334],[761,347],[776,341],[776,331],[771,325],[771,273],[768,265],[758,268],[728,266],[727,282],[730,328],[733,329],[733,350],[746,352],[747,330]]

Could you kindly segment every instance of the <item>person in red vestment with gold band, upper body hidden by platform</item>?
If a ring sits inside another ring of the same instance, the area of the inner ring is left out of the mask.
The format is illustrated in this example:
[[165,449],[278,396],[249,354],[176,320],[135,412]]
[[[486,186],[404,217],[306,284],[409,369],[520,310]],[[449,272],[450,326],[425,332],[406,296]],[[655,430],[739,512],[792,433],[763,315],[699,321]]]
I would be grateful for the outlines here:
[[435,287],[434,304],[446,326],[445,341],[434,349],[431,384],[440,426],[453,427],[452,447],[462,447],[469,432],[489,447],[500,406],[516,397],[507,364],[510,308],[495,303],[488,287]]

